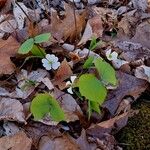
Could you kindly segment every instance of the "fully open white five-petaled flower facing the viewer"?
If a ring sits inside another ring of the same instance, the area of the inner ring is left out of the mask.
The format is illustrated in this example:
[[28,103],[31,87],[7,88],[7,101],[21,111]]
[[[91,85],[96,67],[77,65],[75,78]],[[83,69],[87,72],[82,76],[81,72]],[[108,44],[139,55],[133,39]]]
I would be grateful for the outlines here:
[[58,61],[58,57],[54,54],[47,54],[46,58],[42,59],[43,66],[46,70],[54,69],[56,70],[60,66],[60,62]]

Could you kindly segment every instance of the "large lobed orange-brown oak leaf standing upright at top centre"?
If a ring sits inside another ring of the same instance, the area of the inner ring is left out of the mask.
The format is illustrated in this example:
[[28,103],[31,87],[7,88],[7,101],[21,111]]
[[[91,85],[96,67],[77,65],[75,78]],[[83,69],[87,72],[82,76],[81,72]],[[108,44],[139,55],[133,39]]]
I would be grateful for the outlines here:
[[[74,19],[74,9],[72,6],[65,4],[65,18],[59,19],[57,12],[51,12],[51,25],[44,27],[43,30],[50,31],[58,41],[69,39],[73,41],[76,37],[79,37],[80,33],[85,26],[86,12],[82,14],[76,12],[76,23]],[[76,25],[75,25],[76,24]]]

